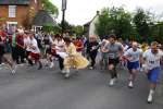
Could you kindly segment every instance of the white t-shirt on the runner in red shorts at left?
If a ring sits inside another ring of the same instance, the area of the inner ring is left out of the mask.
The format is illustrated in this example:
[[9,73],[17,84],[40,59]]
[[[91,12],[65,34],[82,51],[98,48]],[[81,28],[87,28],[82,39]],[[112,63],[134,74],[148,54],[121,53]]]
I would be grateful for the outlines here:
[[34,53],[40,53],[40,50],[38,48],[38,45],[37,45],[37,40],[35,38],[30,39],[30,46],[35,47],[35,49],[33,48],[29,48],[28,50],[34,52]]

